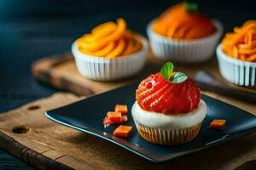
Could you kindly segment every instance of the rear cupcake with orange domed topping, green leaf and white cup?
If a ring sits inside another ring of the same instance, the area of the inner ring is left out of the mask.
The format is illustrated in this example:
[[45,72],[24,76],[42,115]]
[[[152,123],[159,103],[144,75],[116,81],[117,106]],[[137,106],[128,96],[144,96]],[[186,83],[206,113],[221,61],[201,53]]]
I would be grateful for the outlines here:
[[159,59],[180,63],[201,62],[212,57],[223,27],[199,12],[196,3],[178,3],[151,21],[150,47]]

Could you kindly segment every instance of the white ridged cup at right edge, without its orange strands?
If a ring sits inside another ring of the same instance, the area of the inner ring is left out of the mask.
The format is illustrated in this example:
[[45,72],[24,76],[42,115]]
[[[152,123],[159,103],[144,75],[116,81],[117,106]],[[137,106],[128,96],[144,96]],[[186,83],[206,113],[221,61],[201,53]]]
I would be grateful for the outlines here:
[[224,54],[221,44],[216,49],[218,68],[229,82],[239,86],[256,87],[256,63],[233,59]]

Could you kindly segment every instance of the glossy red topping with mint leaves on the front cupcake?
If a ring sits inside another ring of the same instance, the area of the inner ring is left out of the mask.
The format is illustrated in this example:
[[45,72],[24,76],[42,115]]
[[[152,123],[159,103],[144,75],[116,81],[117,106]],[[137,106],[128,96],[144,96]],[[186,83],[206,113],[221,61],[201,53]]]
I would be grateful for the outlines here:
[[166,115],[185,114],[198,107],[200,90],[183,72],[173,72],[172,63],[167,62],[160,72],[139,84],[136,99],[146,111]]

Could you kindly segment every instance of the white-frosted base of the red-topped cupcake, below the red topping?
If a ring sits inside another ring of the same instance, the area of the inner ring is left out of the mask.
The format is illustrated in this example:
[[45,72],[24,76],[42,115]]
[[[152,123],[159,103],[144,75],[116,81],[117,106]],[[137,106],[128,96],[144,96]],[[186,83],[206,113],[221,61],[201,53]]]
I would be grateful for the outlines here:
[[198,108],[186,114],[165,115],[143,110],[137,102],[131,108],[137,131],[154,144],[184,144],[195,139],[207,115],[207,105],[200,100]]

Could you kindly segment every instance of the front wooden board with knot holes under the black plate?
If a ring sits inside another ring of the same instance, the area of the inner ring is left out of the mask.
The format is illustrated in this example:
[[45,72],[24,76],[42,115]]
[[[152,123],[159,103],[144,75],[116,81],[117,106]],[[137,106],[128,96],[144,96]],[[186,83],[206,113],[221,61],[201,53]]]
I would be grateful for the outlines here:
[[[256,166],[253,161],[256,160],[256,133],[157,164],[103,139],[61,126],[44,116],[44,111],[79,99],[83,98],[74,94],[55,94],[1,114],[0,147],[40,169],[226,170]],[[256,111],[255,106],[250,109]]]

